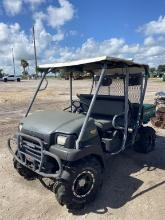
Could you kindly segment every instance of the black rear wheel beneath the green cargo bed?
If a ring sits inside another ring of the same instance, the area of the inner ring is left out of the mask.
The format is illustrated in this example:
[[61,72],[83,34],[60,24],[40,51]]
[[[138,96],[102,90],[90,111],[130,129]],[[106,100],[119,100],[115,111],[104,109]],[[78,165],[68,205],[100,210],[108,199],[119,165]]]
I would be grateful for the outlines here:
[[139,153],[149,153],[155,149],[155,130],[151,127],[141,127],[138,132],[138,140],[134,149]]

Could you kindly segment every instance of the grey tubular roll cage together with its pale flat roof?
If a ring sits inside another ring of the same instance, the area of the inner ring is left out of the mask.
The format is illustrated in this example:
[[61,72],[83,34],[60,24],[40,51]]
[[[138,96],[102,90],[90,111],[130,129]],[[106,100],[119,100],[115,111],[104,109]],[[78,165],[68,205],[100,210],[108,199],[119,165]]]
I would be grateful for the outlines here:
[[[45,65],[40,65],[38,67],[39,71],[42,72],[42,78],[39,82],[39,85],[36,89],[36,92],[32,98],[32,101],[30,102],[29,108],[26,112],[25,117],[28,116],[29,111],[31,110],[31,107],[35,101],[35,98],[38,94],[39,91],[46,89],[48,82],[46,80],[46,76],[50,72],[58,71],[58,70],[65,70],[66,73],[69,75],[69,80],[70,80],[70,105],[71,105],[71,112],[72,112],[72,101],[73,101],[73,95],[72,95],[72,76],[74,71],[87,71],[92,74],[92,86],[91,86],[91,91],[92,93],[93,88],[94,88],[94,75],[98,76],[98,81],[96,84],[96,89],[93,94],[92,100],[90,102],[88,111],[86,113],[86,117],[84,120],[84,123],[82,125],[82,128],[80,130],[80,134],[78,136],[78,139],[76,141],[76,149],[81,148],[81,140],[83,138],[84,132],[86,130],[87,124],[89,117],[91,116],[92,110],[94,108],[94,104],[96,101],[96,98],[99,93],[99,89],[102,85],[103,78],[105,75],[110,75],[111,77],[114,78],[121,78],[124,83],[124,97],[125,97],[125,109],[124,112],[122,113],[124,116],[124,126],[120,127],[119,129],[123,130],[123,141],[122,141],[122,147],[118,152],[124,150],[126,146],[126,140],[128,136],[128,110],[129,110],[129,86],[131,84],[131,76],[136,76],[135,80],[133,82],[134,85],[140,85],[140,94],[139,94],[139,106],[138,106],[138,116],[136,120],[136,125],[134,126],[133,129],[133,136],[132,136],[132,144],[135,141],[135,137],[137,134],[137,130],[139,126],[141,125],[141,114],[142,114],[142,107],[143,107],[143,100],[144,100],[144,95],[147,87],[147,79],[148,79],[148,66],[144,64],[138,64],[130,60],[124,60],[124,59],[118,59],[118,58],[113,58],[113,57],[98,57],[98,58],[93,58],[93,59],[85,59],[85,60],[78,60],[78,61],[71,61],[71,62],[66,62],[66,63],[56,63],[56,64],[45,64]],[[46,85],[43,89],[41,89],[41,85],[43,81],[46,80]],[[133,85],[132,84],[132,85]],[[110,94],[109,94],[110,95]],[[119,115],[116,115],[114,117],[114,120],[116,117],[119,117]],[[113,121],[114,124],[114,121]]]

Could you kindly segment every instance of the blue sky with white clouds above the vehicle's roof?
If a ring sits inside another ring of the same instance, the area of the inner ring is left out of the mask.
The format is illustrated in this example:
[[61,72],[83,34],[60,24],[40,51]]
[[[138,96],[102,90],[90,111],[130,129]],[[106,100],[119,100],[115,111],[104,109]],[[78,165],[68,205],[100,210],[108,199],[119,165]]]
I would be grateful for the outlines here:
[[162,0],[0,0],[0,69],[16,72],[20,60],[34,73],[32,26],[38,63],[115,56],[165,63]]

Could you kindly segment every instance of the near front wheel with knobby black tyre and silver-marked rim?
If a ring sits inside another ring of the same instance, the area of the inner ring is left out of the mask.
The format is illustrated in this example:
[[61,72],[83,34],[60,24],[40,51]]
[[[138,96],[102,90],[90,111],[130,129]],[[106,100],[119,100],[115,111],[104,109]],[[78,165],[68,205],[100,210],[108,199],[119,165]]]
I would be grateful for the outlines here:
[[100,163],[94,158],[78,162],[54,184],[57,201],[70,210],[81,209],[93,201],[102,183]]

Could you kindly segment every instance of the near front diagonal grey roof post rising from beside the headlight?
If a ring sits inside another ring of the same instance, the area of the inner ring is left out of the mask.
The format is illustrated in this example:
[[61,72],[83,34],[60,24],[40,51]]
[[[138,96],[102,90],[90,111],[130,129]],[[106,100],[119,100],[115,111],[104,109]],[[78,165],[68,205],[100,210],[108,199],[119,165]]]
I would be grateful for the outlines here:
[[85,133],[85,130],[86,130],[86,127],[87,127],[87,124],[88,124],[88,120],[89,120],[89,117],[91,115],[91,112],[93,110],[93,106],[95,104],[95,100],[96,100],[96,97],[98,95],[98,92],[99,92],[99,89],[100,89],[100,85],[101,85],[101,82],[102,82],[102,79],[104,77],[104,74],[105,74],[105,70],[107,69],[107,64],[104,63],[103,65],[103,68],[101,70],[101,74],[100,74],[100,78],[99,78],[99,81],[98,81],[98,84],[97,84],[97,87],[96,87],[96,92],[95,94],[93,95],[92,97],[92,100],[91,100],[91,103],[90,103],[90,106],[89,106],[89,109],[88,109],[88,112],[86,114],[86,117],[85,117],[85,120],[84,120],[84,123],[82,125],[82,128],[81,128],[81,131],[80,131],[80,134],[79,134],[79,137],[76,141],[76,149],[78,150],[79,149],[79,144],[84,136],[84,133]]

